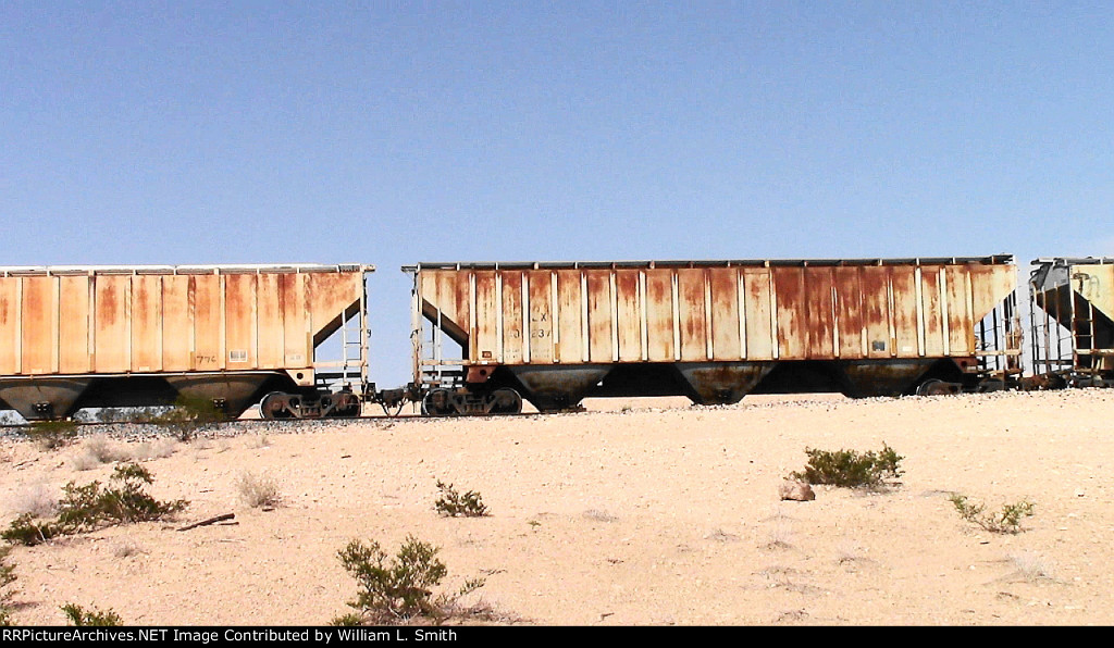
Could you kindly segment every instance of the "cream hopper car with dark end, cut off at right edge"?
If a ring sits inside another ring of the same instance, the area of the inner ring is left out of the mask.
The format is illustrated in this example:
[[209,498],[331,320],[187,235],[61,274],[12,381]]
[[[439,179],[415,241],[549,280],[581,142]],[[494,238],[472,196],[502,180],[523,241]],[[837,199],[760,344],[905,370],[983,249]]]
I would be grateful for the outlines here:
[[1033,380],[1114,386],[1114,258],[1038,258],[1033,266]]

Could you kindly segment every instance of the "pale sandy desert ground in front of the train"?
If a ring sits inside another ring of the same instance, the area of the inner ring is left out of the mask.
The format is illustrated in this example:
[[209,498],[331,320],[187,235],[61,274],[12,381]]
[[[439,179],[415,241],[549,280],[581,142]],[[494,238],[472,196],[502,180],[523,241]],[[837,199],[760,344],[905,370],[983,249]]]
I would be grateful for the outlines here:
[[[446,588],[485,578],[470,597],[502,624],[1114,622],[1114,392],[686,403],[113,439],[146,458],[153,494],[189,507],[14,548],[14,621],[62,625],[72,602],[134,625],[323,625],[356,591],[340,549],[393,553],[413,536],[440,548]],[[80,459],[92,442],[0,440],[0,524],[67,482],[107,480],[111,463]],[[807,448],[883,443],[903,458],[899,484],[780,501]],[[282,503],[245,503],[245,473]],[[438,480],[479,492],[490,516],[439,516]],[[951,493],[1034,514],[1019,533],[985,531]]]

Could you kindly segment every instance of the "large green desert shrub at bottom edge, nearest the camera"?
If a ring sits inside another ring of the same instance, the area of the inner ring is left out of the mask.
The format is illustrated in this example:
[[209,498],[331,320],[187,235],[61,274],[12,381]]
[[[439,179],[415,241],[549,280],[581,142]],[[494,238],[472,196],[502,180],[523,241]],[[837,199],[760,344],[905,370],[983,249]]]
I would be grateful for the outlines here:
[[434,596],[449,570],[437,558],[439,549],[410,536],[399,552],[388,558],[378,542],[353,540],[339,552],[341,564],[360,585],[349,606],[355,613],[333,619],[333,625],[401,624],[412,619],[436,625],[453,616],[466,616],[458,600],[481,587],[482,579],[469,580],[458,591]]

